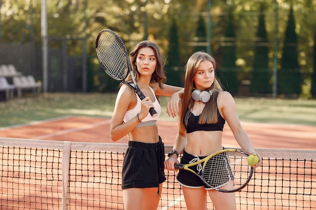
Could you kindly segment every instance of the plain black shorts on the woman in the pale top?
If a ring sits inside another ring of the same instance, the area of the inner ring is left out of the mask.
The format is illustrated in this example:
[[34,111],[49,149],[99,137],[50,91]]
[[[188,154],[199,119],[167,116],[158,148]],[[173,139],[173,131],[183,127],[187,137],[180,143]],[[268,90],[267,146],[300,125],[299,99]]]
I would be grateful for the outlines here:
[[165,148],[161,141],[148,144],[130,141],[122,169],[122,189],[159,187],[166,180]]

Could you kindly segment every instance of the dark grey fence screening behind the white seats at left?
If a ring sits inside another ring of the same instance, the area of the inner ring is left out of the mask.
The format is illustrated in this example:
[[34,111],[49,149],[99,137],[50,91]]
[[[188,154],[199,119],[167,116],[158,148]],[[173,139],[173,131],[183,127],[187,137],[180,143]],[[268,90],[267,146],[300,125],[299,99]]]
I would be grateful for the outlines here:
[[[0,63],[14,64],[23,75],[42,82],[42,50],[34,44],[0,43]],[[82,55],[70,55],[67,43],[48,51],[48,91],[82,92]],[[9,78],[10,80],[10,78]]]

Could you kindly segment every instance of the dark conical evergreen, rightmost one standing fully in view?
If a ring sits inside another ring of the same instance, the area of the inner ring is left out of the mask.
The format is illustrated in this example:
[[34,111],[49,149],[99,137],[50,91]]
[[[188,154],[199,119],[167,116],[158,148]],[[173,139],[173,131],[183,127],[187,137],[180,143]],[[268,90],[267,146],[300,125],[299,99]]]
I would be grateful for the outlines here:
[[289,12],[282,52],[281,69],[278,76],[278,92],[286,96],[300,95],[302,81],[298,64],[297,35],[295,32],[293,6],[291,6]]

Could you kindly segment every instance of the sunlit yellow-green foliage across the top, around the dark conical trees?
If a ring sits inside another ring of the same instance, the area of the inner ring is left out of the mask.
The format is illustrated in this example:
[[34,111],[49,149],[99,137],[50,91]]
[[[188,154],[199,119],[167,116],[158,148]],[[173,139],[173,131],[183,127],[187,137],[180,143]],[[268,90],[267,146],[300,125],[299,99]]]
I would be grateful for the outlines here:
[[[205,0],[172,0],[172,1],[144,1],[144,0],[50,0],[47,3],[47,18],[48,18],[48,37],[50,46],[53,48],[60,48],[61,41],[64,38],[68,40],[68,51],[71,55],[81,55],[83,52],[82,38],[87,38],[87,52],[88,57],[95,57],[94,42],[98,32],[104,28],[110,28],[116,31],[123,39],[128,50],[130,50],[137,42],[144,37],[145,17],[148,23],[148,40],[154,41],[160,45],[163,52],[167,52],[170,48],[170,28],[172,20],[177,22],[178,45],[180,66],[186,63],[186,60],[192,54],[194,44],[193,38],[197,32],[201,30],[197,24],[198,19],[206,20],[207,15],[212,16],[212,35],[211,46],[212,54],[215,55],[218,61],[219,68],[225,66],[227,59],[223,57],[224,48],[229,49],[229,44],[234,44],[233,51],[235,51],[234,62],[237,66],[225,67],[220,69],[222,74],[225,74],[225,79],[222,77],[222,83],[232,88],[233,92],[238,90],[238,81],[243,79],[250,79],[252,76],[253,61],[257,58],[257,53],[253,51],[253,37],[258,31],[257,19],[260,11],[260,5],[265,3],[267,10],[266,16],[266,30],[269,48],[268,64],[270,68],[273,67],[274,54],[274,0],[236,0],[236,1],[212,1],[211,11],[206,11],[208,1]],[[287,35],[284,33],[288,23],[289,1],[277,1],[279,3],[279,49],[278,57],[288,57],[283,52],[289,52],[282,49],[283,43]],[[301,79],[295,81],[298,86],[307,86],[312,84],[312,68],[314,66],[313,57],[313,40],[314,30],[316,25],[316,2],[314,0],[292,0],[295,8],[293,8],[293,15],[295,17],[296,33],[298,36],[297,47],[297,61],[299,68],[303,70],[308,69],[307,73],[303,73]],[[41,40],[41,1],[40,0],[2,0],[0,5],[0,42],[4,44],[30,44],[34,41],[37,48],[42,45]],[[234,16],[234,41],[229,41],[225,37],[227,31],[228,18],[227,8],[232,8]],[[147,14],[145,16],[144,14]],[[87,25],[85,24],[87,23]],[[201,38],[203,35],[201,35]],[[54,41],[52,41],[54,39]],[[39,57],[37,55],[33,57]],[[231,59],[231,60],[233,60]],[[282,59],[283,60],[283,59]],[[278,60],[278,68],[280,69],[281,59]],[[7,61],[0,61],[6,63]],[[9,62],[9,61],[8,61]],[[232,63],[233,64],[233,63]],[[89,65],[88,74],[90,77],[89,87],[91,90],[106,91],[106,85],[110,84],[106,76],[99,75],[97,63]],[[223,66],[224,65],[224,66]],[[39,63],[38,66],[41,66]],[[31,66],[30,69],[33,69]],[[40,68],[40,67],[38,67]],[[282,64],[283,71],[285,69]],[[223,71],[222,71],[223,70]],[[228,71],[228,72],[225,72]],[[295,70],[296,71],[296,70]],[[37,69],[36,72],[41,72]],[[290,69],[285,70],[288,74]],[[231,74],[230,74],[231,73]],[[95,75],[94,75],[95,74]],[[296,74],[296,73],[295,73]],[[282,72],[282,75],[284,73]],[[224,76],[224,75],[223,75]],[[231,79],[229,77],[232,77]],[[94,79],[93,79],[94,78]],[[231,82],[234,81],[234,82]],[[281,81],[279,81],[281,82]],[[235,84],[234,84],[235,83]],[[292,83],[292,82],[291,82]],[[94,86],[98,84],[97,86]],[[256,82],[253,82],[256,84]],[[283,82],[281,82],[283,84]],[[285,83],[286,84],[286,83]],[[307,85],[306,85],[307,84]],[[313,82],[315,84],[315,82]],[[103,88],[101,88],[101,86]],[[283,86],[283,85],[282,85]],[[280,87],[281,91],[283,87]],[[304,87],[304,90],[310,91]],[[116,85],[112,90],[116,89]],[[287,90],[287,86],[283,89]],[[295,88],[297,89],[297,88]],[[240,92],[240,90],[238,91]],[[291,94],[296,91],[291,91]],[[296,94],[299,95],[299,94]],[[311,94],[307,93],[308,96]]]

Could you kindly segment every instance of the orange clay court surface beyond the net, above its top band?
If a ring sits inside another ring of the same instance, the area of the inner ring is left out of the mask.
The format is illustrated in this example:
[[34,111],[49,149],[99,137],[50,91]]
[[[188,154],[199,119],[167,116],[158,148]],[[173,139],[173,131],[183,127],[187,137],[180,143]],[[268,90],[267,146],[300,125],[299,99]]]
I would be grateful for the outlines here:
[[[52,141],[113,143],[110,118],[65,116],[0,129],[1,137],[31,138]],[[159,133],[165,145],[173,145],[177,121],[158,120]],[[254,148],[316,150],[316,126],[242,122]],[[117,141],[126,144],[128,137]],[[223,133],[224,147],[239,147],[227,125]]]

